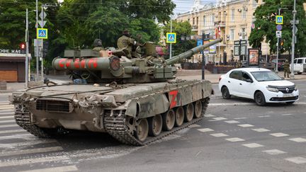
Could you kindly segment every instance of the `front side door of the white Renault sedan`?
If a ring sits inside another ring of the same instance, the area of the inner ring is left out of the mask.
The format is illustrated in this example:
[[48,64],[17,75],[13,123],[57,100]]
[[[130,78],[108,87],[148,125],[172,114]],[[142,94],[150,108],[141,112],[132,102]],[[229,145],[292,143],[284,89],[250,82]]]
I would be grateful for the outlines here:
[[242,71],[242,79],[239,81],[239,92],[244,98],[253,98],[254,84],[251,76],[246,72]]

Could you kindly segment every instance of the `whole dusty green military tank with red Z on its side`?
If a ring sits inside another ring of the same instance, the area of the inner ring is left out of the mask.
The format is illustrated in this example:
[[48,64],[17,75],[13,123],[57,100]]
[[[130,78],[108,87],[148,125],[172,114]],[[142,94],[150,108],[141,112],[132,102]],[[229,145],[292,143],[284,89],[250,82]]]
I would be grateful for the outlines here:
[[79,82],[14,92],[16,123],[43,138],[86,130],[108,132],[125,144],[152,143],[201,120],[213,93],[210,81],[175,79],[171,64],[221,41],[166,60],[154,55],[152,44],[132,59],[124,50],[68,50],[52,66],[72,72]]

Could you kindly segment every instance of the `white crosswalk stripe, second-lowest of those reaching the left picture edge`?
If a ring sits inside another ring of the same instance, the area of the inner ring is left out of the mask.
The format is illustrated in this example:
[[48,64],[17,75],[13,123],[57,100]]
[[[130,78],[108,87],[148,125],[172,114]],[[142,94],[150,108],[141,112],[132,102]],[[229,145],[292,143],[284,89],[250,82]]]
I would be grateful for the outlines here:
[[18,150],[18,151],[0,152],[0,156],[35,154],[35,153],[43,153],[47,151],[62,151],[62,150],[63,150],[62,147],[43,147],[43,148],[35,148],[35,149],[23,149],[23,150]]

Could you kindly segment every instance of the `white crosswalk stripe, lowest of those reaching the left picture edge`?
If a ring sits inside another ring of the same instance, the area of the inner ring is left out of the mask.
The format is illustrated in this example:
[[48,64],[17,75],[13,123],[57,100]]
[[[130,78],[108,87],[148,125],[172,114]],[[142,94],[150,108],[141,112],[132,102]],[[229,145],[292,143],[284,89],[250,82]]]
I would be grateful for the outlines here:
[[26,164],[34,164],[34,163],[42,163],[42,162],[49,162],[49,161],[62,161],[67,160],[69,157],[67,156],[48,156],[38,159],[21,159],[17,161],[6,161],[6,162],[0,162],[0,167],[5,166],[21,166]]

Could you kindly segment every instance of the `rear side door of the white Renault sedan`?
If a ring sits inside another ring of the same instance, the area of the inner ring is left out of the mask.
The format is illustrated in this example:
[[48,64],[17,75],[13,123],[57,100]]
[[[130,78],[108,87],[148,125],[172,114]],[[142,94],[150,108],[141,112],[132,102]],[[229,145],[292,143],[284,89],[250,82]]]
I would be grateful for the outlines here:
[[229,93],[234,96],[241,96],[239,93],[239,81],[241,80],[242,72],[239,70],[232,71],[229,74],[229,79],[227,81],[227,88],[229,89]]

